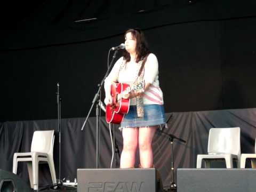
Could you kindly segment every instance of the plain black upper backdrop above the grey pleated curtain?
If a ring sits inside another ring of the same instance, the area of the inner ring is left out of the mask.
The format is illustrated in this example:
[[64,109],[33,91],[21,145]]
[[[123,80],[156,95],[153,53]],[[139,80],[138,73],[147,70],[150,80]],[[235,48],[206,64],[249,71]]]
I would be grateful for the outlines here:
[[85,117],[131,27],[158,57],[166,113],[256,107],[255,1],[14,2],[1,6],[0,122],[57,118],[57,82],[62,117]]

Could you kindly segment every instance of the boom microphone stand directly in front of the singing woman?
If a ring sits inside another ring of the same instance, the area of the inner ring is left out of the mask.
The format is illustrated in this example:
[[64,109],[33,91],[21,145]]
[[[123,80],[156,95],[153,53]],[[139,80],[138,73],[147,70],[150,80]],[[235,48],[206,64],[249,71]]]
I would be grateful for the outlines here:
[[[110,66],[108,67],[108,70],[107,70],[105,76],[103,77],[101,83],[98,85],[99,89],[98,89],[97,93],[94,95],[94,98],[92,100],[91,108],[90,108],[89,113],[87,114],[87,116],[85,118],[85,121],[84,121],[84,124],[82,126],[81,131],[84,130],[84,126],[87,123],[89,115],[91,114],[91,111],[92,111],[92,108],[93,108],[93,106],[95,104],[95,101],[99,98],[102,85],[103,85],[103,83],[105,81],[105,78],[107,77],[107,75],[108,75],[108,73],[110,71],[111,66],[113,65],[113,61],[116,58],[117,51],[118,50],[115,50],[115,52],[113,54],[113,57],[112,57],[112,60],[110,62]],[[99,104],[98,103],[99,103],[99,101],[97,102],[97,105],[96,105],[96,169],[98,169],[98,163],[99,163],[99,119],[98,119],[99,118]]]

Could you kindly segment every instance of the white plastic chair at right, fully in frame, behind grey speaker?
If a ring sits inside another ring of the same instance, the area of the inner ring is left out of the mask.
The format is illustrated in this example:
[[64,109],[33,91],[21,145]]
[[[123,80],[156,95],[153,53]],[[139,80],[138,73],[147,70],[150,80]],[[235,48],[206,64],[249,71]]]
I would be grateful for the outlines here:
[[233,168],[233,159],[240,166],[240,127],[212,128],[208,138],[208,155],[197,155],[196,168],[210,168],[210,161],[225,159],[227,168]]

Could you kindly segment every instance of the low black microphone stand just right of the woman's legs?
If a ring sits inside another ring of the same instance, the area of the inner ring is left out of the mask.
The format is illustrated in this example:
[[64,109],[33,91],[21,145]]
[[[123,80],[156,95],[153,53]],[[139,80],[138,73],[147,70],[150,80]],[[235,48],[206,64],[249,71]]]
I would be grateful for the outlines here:
[[[166,124],[169,122],[169,120],[171,119],[172,115],[169,117],[169,119],[167,120]],[[158,133],[161,133],[163,134],[165,137],[167,137],[169,139],[169,141],[171,142],[171,155],[172,155],[172,159],[171,159],[171,173],[172,173],[172,181],[171,181],[171,185],[170,185],[170,189],[171,190],[175,190],[177,189],[177,185],[176,183],[174,182],[174,157],[173,157],[173,140],[174,139],[177,139],[181,142],[184,142],[186,143],[185,140],[181,139],[181,138],[178,138],[176,137],[175,135],[173,134],[170,134],[170,133],[165,133],[163,131],[160,131],[160,130],[157,130]]]

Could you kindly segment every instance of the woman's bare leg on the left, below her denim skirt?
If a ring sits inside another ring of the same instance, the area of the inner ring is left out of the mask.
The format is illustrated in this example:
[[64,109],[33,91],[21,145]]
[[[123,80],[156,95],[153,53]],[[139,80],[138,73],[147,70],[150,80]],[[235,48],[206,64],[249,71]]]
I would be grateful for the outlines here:
[[138,128],[123,128],[123,151],[120,168],[132,168],[135,164],[135,153],[138,146]]

